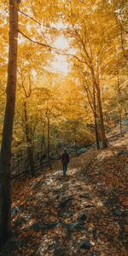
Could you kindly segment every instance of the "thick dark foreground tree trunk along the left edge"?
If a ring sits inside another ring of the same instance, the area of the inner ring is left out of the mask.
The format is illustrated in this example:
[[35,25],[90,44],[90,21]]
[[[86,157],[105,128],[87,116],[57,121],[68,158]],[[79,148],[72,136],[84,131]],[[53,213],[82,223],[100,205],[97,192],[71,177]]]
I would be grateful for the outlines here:
[[3,139],[0,159],[0,238],[7,241],[11,236],[11,143],[15,118],[15,95],[18,47],[18,0],[9,0],[9,64],[7,102],[3,123]]

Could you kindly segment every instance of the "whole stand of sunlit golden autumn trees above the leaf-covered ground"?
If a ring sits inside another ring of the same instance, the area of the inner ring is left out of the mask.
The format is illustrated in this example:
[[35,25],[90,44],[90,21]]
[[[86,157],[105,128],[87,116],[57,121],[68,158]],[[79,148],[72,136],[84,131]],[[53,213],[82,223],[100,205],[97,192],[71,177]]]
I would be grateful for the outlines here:
[[36,157],[51,166],[65,146],[77,155],[95,142],[108,148],[113,131],[123,136],[128,32],[125,1],[9,0],[0,9],[0,236],[7,241],[13,157],[22,155],[33,177]]

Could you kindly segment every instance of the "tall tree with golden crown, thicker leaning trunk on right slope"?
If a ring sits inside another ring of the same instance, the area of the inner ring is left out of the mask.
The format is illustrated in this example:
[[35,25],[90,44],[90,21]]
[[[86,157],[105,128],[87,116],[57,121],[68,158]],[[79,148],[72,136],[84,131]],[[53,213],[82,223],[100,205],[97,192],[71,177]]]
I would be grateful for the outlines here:
[[[76,0],[70,3],[67,1],[67,10],[64,9],[64,14],[70,23],[67,28],[67,35],[69,38],[72,38],[72,45],[73,47],[75,46],[76,49],[75,55],[73,55],[73,57],[84,64],[84,69],[90,73],[91,82],[96,88],[96,99],[98,106],[97,109],[100,119],[102,146],[103,148],[106,148],[108,147],[108,143],[105,136],[100,84],[100,58],[104,47],[104,41],[102,43],[102,39],[100,39],[101,41],[99,44],[99,37],[102,38],[102,29],[98,30],[98,33],[96,33],[99,20],[97,19],[98,16],[96,15],[96,6],[94,2],[82,2],[77,4],[78,2],[79,1]],[[92,7],[94,7],[95,11]],[[89,15],[89,9],[91,18]]]

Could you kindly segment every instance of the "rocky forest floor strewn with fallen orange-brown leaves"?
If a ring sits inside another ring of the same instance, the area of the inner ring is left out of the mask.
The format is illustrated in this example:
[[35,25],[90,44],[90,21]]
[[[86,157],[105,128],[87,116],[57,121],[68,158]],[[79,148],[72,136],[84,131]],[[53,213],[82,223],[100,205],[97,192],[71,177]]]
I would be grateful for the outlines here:
[[3,256],[126,256],[128,134],[109,148],[13,181],[14,234]]

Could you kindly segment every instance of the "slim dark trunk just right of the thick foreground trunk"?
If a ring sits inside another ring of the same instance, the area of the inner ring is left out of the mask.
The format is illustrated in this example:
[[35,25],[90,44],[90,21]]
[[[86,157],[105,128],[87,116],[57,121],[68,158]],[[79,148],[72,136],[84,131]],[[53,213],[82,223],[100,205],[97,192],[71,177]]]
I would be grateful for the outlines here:
[[31,175],[32,175],[32,177],[34,177],[35,170],[34,170],[33,145],[32,145],[32,137],[30,134],[28,119],[27,119],[26,102],[24,103],[24,113],[25,113],[25,128],[26,128],[26,143],[27,143],[28,162],[29,162],[29,166],[30,166]]

